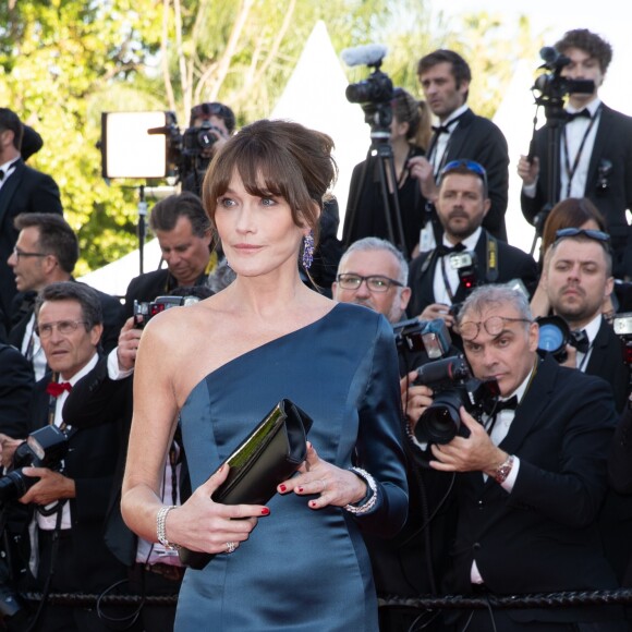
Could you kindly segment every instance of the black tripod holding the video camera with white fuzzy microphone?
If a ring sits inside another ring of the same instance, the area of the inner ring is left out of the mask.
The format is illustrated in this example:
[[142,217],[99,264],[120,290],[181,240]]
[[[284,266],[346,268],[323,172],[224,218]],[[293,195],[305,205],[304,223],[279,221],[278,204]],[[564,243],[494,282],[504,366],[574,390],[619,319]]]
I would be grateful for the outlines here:
[[[392,146],[390,144],[390,123],[392,121],[392,110],[390,102],[386,104],[364,104],[364,120],[370,125],[370,147],[362,168],[360,186],[357,187],[352,204],[350,205],[350,217],[345,219],[345,224],[350,228],[354,226],[358,212],[360,196],[366,186],[369,158],[376,151],[377,168],[379,173],[379,187],[385,214],[385,222],[388,232],[388,240],[409,259],[409,252],[404,240],[404,229],[401,217],[400,203],[398,197],[397,173]],[[389,187],[389,182],[392,191]],[[352,230],[349,230],[344,247],[351,244]]]

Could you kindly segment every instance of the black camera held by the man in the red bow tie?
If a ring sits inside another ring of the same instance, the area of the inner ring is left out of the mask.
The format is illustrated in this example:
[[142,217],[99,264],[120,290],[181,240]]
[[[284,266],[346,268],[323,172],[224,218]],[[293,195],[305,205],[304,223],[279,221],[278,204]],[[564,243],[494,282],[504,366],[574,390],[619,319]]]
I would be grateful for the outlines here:
[[22,498],[39,481],[37,476],[26,476],[24,467],[61,471],[68,440],[68,434],[52,425],[31,433],[13,454],[13,469],[0,478],[0,501]]

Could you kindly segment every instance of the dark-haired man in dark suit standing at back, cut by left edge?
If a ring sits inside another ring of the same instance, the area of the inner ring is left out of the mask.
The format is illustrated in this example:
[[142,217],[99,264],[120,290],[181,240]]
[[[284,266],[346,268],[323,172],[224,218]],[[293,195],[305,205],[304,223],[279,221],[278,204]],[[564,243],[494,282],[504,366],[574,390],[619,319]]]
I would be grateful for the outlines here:
[[62,214],[59,187],[50,175],[27,167],[20,155],[23,125],[17,114],[0,108],[0,308],[8,317],[16,292],[7,259],[17,240],[14,218],[21,212]]

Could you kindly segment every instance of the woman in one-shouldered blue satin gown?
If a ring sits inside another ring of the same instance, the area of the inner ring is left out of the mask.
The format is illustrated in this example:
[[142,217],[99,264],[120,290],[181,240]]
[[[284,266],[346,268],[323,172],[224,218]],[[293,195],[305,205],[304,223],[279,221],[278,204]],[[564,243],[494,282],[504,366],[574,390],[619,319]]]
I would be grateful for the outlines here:
[[[398,363],[384,316],[301,281],[331,149],[284,121],[232,137],[203,191],[236,279],[141,339],[123,516],[146,539],[221,554],[186,571],[178,630],[377,630],[361,531],[392,536],[406,515]],[[306,461],[266,507],[214,502],[219,465],[283,398],[314,420]],[[157,493],[179,418],[195,491],[170,508]]]

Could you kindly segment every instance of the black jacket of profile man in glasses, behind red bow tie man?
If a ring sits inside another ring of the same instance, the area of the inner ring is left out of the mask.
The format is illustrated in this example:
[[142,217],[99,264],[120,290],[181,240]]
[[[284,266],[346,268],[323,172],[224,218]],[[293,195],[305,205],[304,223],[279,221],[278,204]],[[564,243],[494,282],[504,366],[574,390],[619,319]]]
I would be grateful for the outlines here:
[[[74,279],[72,279],[74,281]],[[77,283],[81,281],[76,281]],[[94,289],[94,288],[93,288]],[[121,302],[110,294],[106,294],[100,290],[95,290],[101,303],[101,311],[104,314],[104,333],[100,340],[102,351],[108,353],[119,343],[119,335],[121,327],[125,323],[124,308]],[[35,308],[35,292],[19,292],[13,300],[11,326],[9,330],[9,342],[22,349],[22,341],[26,332],[26,326],[33,316]]]

